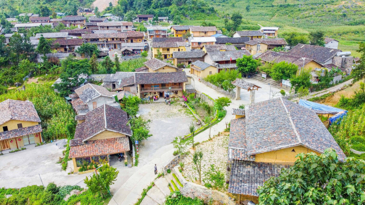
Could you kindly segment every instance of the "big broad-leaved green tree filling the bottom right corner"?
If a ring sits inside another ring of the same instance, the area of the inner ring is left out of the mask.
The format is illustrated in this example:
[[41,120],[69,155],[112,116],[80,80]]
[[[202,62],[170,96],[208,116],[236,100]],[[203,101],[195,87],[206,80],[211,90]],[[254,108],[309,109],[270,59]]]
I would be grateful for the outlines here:
[[297,157],[279,177],[258,187],[260,205],[364,203],[364,160],[346,158],[341,162],[331,148],[320,156],[311,152]]

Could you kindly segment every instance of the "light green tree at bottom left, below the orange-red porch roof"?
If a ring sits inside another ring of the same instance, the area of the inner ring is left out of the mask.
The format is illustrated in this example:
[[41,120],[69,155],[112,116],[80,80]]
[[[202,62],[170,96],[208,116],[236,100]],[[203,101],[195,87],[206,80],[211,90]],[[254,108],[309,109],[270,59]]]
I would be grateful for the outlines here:
[[110,185],[114,184],[118,174],[119,171],[116,168],[104,164],[90,179],[86,177],[84,182],[92,193],[100,194],[101,198],[106,198],[110,190]]

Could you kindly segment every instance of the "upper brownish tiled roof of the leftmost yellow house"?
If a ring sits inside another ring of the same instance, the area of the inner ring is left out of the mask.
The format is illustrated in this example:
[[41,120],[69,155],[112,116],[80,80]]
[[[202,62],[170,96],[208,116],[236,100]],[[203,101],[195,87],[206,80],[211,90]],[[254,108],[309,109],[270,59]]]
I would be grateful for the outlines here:
[[32,102],[7,99],[0,102],[0,125],[9,120],[41,122]]

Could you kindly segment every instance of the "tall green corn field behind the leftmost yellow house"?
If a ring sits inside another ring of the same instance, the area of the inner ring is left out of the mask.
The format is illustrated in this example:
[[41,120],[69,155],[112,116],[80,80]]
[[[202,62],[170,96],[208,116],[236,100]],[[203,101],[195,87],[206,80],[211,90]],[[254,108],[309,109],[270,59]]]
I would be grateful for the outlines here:
[[42,136],[46,141],[51,139],[73,138],[76,122],[71,105],[58,96],[51,83],[27,84],[25,90],[12,90],[0,95],[0,101],[6,99],[29,100],[41,118]]

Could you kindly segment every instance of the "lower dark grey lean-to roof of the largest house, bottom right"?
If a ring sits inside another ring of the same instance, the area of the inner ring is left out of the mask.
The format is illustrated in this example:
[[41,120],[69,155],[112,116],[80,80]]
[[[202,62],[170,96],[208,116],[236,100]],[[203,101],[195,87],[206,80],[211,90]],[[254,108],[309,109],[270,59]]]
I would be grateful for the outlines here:
[[256,192],[258,186],[264,185],[270,177],[278,177],[281,169],[289,167],[289,165],[233,160],[228,192],[258,196]]

